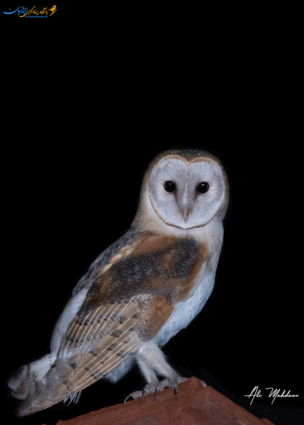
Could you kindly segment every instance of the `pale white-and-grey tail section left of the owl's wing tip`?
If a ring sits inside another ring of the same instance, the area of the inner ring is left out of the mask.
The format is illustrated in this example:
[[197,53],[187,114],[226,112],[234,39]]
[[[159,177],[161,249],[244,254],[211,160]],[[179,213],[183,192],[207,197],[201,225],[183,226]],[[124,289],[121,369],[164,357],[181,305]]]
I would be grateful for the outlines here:
[[55,360],[56,353],[46,354],[15,370],[7,381],[11,395],[19,400],[26,399],[30,389],[43,380]]

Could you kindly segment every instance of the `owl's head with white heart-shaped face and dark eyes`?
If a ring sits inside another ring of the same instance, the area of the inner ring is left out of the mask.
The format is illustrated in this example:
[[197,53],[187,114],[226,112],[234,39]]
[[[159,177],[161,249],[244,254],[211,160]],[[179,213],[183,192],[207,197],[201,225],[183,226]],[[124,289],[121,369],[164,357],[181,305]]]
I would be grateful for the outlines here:
[[[224,218],[229,187],[219,159],[202,150],[170,150],[159,154],[145,173],[139,209],[181,229],[202,227]],[[144,204],[144,205],[142,205]]]

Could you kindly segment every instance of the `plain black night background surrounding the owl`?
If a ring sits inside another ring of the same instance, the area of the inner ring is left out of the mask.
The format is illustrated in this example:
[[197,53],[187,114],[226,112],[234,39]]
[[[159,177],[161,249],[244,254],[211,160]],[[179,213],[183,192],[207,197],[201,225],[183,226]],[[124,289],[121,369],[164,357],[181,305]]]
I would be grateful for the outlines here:
[[[299,11],[57,9],[2,17],[2,379],[48,352],[75,284],[131,225],[153,156],[197,147],[227,169],[224,245],[207,304],[163,351],[256,416],[299,424]],[[6,423],[53,425],[142,383],[134,368],[26,418],[3,385],[2,411]],[[271,404],[267,387],[299,397]]]

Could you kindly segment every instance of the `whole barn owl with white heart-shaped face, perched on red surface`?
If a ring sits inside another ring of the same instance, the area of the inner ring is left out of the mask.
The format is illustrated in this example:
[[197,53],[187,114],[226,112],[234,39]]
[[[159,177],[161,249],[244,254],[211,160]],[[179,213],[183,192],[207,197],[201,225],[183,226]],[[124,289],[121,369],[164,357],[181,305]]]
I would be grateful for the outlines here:
[[9,378],[19,416],[77,402],[83,388],[101,378],[117,382],[134,362],[147,382],[134,398],[157,396],[165,385],[177,395],[183,378],[160,348],[188,326],[212,292],[228,202],[227,176],[215,156],[189,149],[156,156],[131,228],[75,286],[51,353]]

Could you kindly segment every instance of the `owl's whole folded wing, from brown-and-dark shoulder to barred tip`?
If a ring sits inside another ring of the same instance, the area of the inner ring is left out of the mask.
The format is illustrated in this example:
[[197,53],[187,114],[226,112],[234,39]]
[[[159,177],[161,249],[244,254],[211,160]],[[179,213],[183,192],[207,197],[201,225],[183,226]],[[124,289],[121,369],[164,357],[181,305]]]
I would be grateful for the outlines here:
[[75,394],[151,340],[188,297],[206,261],[205,245],[150,232],[115,249],[107,261],[101,257],[57,359],[24,409],[41,410]]

